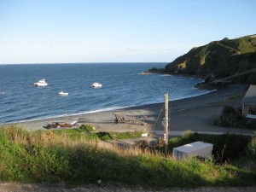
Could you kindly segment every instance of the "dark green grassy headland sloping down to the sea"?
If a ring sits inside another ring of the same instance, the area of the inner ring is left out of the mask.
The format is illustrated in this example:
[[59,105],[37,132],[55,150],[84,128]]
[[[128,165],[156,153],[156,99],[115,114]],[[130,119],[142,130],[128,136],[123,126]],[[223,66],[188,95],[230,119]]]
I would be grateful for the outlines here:
[[[166,65],[166,73],[207,76],[218,79],[256,68],[256,35],[214,41],[193,48]],[[256,73],[236,79],[242,83],[256,83]]]

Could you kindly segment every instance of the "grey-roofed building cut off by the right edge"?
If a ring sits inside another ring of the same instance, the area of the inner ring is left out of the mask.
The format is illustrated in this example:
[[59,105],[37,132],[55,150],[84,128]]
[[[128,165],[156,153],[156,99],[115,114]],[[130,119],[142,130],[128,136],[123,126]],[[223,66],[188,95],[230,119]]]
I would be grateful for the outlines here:
[[251,84],[241,104],[242,114],[247,118],[256,119],[256,84]]

